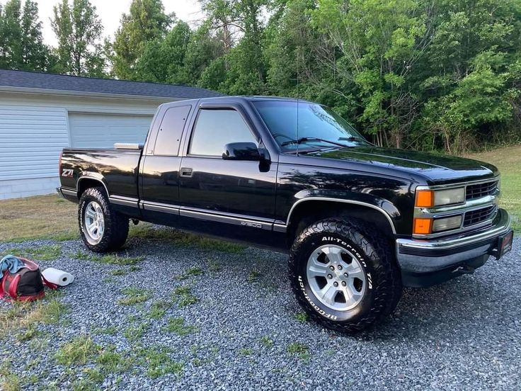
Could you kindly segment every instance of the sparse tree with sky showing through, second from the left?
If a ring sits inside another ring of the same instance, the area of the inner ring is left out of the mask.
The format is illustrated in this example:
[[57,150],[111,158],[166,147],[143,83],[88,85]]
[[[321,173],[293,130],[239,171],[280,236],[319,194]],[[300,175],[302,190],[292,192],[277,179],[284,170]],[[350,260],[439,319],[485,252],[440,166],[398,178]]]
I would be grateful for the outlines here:
[[68,0],[54,7],[52,30],[58,38],[57,72],[76,76],[103,77],[105,60],[101,57],[103,26],[96,7],[88,0]]

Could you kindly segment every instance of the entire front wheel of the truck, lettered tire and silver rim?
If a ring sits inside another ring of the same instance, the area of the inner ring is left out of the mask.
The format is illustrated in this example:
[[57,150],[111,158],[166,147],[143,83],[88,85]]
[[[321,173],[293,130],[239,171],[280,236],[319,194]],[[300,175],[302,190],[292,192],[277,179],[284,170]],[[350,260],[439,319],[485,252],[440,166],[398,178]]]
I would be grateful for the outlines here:
[[389,242],[359,220],[327,219],[298,234],[290,280],[311,319],[355,333],[390,314],[401,296],[401,274]]

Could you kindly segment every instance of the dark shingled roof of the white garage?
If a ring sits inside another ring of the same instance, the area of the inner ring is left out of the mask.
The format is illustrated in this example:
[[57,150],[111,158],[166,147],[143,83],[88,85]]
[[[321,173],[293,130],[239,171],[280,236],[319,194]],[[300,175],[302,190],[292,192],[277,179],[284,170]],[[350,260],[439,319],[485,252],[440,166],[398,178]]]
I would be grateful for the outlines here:
[[115,79],[96,79],[64,74],[0,69],[0,88],[40,89],[87,94],[150,96],[160,98],[211,98],[222,96],[215,91],[178,84],[146,83]]

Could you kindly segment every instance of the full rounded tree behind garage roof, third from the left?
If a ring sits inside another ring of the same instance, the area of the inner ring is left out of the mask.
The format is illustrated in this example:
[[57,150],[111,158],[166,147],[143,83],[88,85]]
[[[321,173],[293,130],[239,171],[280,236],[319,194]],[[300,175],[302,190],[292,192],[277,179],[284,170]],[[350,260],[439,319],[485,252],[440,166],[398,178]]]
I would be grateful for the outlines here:
[[135,67],[148,42],[162,40],[173,23],[161,0],[132,0],[124,13],[113,44],[113,72],[120,79],[137,79]]

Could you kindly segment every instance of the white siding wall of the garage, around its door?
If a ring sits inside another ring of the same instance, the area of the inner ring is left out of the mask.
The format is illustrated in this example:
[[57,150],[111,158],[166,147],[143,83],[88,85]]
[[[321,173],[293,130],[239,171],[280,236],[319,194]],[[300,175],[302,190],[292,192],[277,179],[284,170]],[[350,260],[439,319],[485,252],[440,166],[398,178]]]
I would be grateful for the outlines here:
[[0,200],[55,192],[59,153],[71,145],[71,114],[151,120],[159,104],[174,100],[0,91]]

